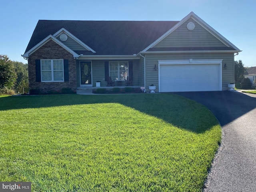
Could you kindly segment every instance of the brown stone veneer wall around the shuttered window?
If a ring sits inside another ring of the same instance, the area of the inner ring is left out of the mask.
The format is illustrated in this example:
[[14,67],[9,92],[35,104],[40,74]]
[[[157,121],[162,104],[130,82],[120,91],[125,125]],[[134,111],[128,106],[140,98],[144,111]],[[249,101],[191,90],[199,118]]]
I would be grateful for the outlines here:
[[[68,75],[67,82],[36,82],[36,59],[67,59]],[[30,89],[39,89],[40,92],[61,91],[62,88],[69,87],[76,91],[76,60],[73,54],[50,40],[28,58],[28,81]]]

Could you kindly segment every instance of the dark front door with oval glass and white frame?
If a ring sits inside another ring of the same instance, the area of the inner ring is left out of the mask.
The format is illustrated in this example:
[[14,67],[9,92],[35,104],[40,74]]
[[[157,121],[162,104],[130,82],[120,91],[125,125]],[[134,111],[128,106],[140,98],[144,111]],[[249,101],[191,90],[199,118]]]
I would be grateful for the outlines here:
[[92,87],[92,62],[80,61],[80,86]]

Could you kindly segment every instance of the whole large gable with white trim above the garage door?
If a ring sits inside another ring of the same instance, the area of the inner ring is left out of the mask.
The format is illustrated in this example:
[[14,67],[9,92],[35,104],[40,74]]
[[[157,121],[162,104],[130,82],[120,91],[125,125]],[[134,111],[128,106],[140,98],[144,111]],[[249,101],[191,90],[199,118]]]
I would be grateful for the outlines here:
[[[193,22],[194,28],[187,28]],[[191,33],[188,33],[188,31]],[[180,34],[179,34],[180,32]],[[194,12],[146,47],[141,53],[154,52],[241,52],[234,44],[214,30]]]

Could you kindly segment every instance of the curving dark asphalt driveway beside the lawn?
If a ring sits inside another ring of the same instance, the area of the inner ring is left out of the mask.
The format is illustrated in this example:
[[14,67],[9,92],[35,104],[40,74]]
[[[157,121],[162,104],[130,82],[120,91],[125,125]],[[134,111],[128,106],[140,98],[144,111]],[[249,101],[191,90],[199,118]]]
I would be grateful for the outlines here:
[[240,92],[175,93],[204,104],[222,126],[222,142],[204,192],[256,191],[256,95]]

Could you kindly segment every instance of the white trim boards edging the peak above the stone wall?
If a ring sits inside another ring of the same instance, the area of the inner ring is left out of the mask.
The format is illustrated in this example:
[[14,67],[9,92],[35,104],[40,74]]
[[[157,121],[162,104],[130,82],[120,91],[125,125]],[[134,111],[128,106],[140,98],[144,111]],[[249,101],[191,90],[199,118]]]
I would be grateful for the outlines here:
[[58,44],[59,46],[61,46],[62,48],[66,49],[68,52],[70,52],[71,54],[73,54],[74,57],[79,57],[79,55],[74,52],[73,50],[71,50],[70,48],[68,48],[66,45],[64,45],[62,42],[60,42],[58,39],[56,39],[54,36],[49,35],[46,38],[44,38],[41,42],[39,42],[38,44],[36,44],[33,48],[31,48],[30,50],[28,50],[26,53],[24,53],[22,55],[22,57],[29,57],[32,53],[34,53],[36,50],[38,50],[40,47],[42,47],[44,44],[46,44],[48,41],[53,40],[56,44]]

